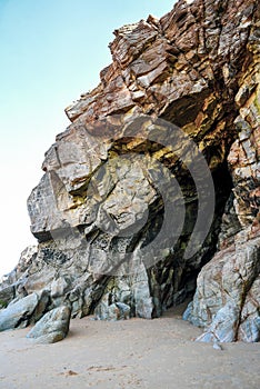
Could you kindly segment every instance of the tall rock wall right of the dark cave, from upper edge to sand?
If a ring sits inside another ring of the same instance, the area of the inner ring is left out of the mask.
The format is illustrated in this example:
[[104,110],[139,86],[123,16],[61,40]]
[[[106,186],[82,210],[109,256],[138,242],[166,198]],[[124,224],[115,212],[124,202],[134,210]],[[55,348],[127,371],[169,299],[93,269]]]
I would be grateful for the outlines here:
[[193,302],[184,317],[207,327],[200,340],[260,340],[260,46],[252,28],[251,63],[234,101],[238,138],[228,163],[233,189],[222,217],[219,251],[201,270]]

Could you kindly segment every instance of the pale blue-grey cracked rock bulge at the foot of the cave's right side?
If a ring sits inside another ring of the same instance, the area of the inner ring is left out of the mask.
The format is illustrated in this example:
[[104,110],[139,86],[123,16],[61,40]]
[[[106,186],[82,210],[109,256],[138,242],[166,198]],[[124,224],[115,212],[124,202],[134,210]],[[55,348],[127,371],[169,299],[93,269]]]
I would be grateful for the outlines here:
[[200,340],[259,339],[260,239],[239,239],[236,248],[218,252],[198,277],[197,291],[184,317],[209,328]]

